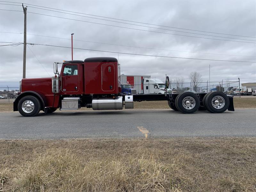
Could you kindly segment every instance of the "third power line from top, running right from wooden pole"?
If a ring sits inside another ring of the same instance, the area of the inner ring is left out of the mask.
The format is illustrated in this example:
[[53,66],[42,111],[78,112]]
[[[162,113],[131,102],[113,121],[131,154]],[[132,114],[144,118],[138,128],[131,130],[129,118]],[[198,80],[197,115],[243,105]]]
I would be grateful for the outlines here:
[[[178,36],[196,37],[196,38],[212,39],[212,40],[220,40],[220,41],[232,41],[232,42],[240,42],[240,43],[253,43],[253,42],[234,41],[234,40],[227,40],[227,39],[214,39],[214,38],[208,38],[208,37],[198,37],[198,36],[180,35],[180,34],[165,33],[165,32],[160,32],[160,31],[150,31],[150,30],[144,30],[144,29],[137,29],[137,28],[122,27],[122,26],[109,25],[109,24],[103,24],[103,23],[96,23],[96,22],[91,22],[91,21],[70,19],[70,18],[66,18],[66,17],[58,17],[58,16],[47,15],[47,14],[42,14],[42,13],[35,13],[35,12],[28,12],[28,13],[33,13],[33,14],[38,14],[38,15],[45,15],[45,16],[49,16],[49,17],[56,17],[56,18],[67,19],[67,20],[75,20],[75,21],[82,21],[82,22],[87,22],[87,23],[94,23],[94,24],[99,24],[99,25],[106,25],[106,26],[111,26],[111,27],[126,28],[126,29],[133,29],[133,30],[139,30],[139,31],[148,31],[148,32],[153,32],[153,33],[162,33],[162,34],[168,34],[168,35],[178,35]],[[255,44],[255,43],[253,43],[253,44]]]

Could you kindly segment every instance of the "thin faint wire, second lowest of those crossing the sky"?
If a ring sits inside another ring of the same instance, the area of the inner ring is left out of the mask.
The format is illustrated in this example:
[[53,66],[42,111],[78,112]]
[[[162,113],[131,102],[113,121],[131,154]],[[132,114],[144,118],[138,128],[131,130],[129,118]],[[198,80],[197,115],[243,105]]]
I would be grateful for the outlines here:
[[[3,32],[3,31],[0,31],[0,33],[14,33],[14,32]],[[23,33],[14,33],[14,34],[23,34]],[[27,33],[27,35],[42,36],[42,37],[49,37],[49,38],[56,38],[56,39],[71,40],[71,39],[69,39],[69,38],[53,37],[53,36],[44,36],[44,35],[36,35],[36,34],[29,34],[29,33]],[[81,41],[81,42],[89,42],[89,43],[97,43],[97,44],[107,44],[107,45],[124,46],[124,47],[141,48],[141,49],[153,49],[153,50],[161,50],[161,51],[188,52],[188,53],[200,53],[200,54],[212,54],[212,55],[228,55],[228,56],[240,56],[240,57],[255,57],[255,56],[248,56],[248,55],[231,55],[231,54],[219,54],[219,53],[179,51],[179,50],[171,50],[171,49],[156,49],[156,48],[150,48],[150,47],[138,47],[138,46],[130,46],[130,45],[109,44],[109,43],[102,43],[102,42],[85,41],[85,40],[79,40],[79,39],[73,39],[73,41]]]

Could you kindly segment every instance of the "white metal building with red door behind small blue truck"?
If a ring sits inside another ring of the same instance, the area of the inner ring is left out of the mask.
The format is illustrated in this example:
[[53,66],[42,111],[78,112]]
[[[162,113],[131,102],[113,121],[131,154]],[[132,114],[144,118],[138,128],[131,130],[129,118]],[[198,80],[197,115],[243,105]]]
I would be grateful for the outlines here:
[[137,90],[137,93],[143,93],[143,79],[148,78],[150,79],[151,76],[147,75],[121,75],[121,84],[131,84],[133,85],[134,89]]

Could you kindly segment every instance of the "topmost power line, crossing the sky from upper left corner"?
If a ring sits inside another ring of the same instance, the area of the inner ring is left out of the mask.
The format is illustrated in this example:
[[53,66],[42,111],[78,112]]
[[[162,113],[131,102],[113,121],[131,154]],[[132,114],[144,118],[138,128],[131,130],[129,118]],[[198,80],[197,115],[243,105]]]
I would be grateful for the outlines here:
[[[19,2],[11,2],[11,1],[0,1],[0,2],[17,3],[17,4],[19,3]],[[21,4],[21,3],[19,3],[19,4]],[[24,4],[26,4],[26,3],[24,3]],[[56,8],[52,8],[52,7],[39,6],[39,5],[34,5],[34,4],[27,4],[27,5],[32,5],[32,6],[37,6],[37,7],[43,7],[43,8],[48,8],[48,9],[54,9],[54,10],[59,10],[59,11],[65,11],[65,12],[79,13],[79,14],[90,15],[90,16],[96,16],[96,17],[102,17],[102,18],[107,18],[107,19],[115,19],[115,20],[122,20],[122,21],[134,22],[134,23],[141,23],[141,24],[147,24],[147,25],[154,25],[154,26],[159,26],[159,27],[184,29],[184,30],[199,31],[199,32],[205,32],[205,33],[214,33],[214,34],[221,34],[221,35],[230,35],[230,36],[241,36],[241,37],[256,38],[256,37],[252,37],[252,36],[233,35],[233,34],[226,34],[226,33],[217,33],[217,32],[201,31],[201,30],[188,29],[188,28],[178,28],[178,27],[157,25],[157,24],[145,23],[145,22],[138,22],[138,21],[132,21],[132,20],[116,19],[116,18],[112,18],[112,17],[104,17],[104,16],[100,16],[100,15],[93,15],[93,14],[86,14],[86,13],[81,13],[81,12],[74,12],[74,11],[68,11],[68,10],[63,10],[63,9],[56,9]]]

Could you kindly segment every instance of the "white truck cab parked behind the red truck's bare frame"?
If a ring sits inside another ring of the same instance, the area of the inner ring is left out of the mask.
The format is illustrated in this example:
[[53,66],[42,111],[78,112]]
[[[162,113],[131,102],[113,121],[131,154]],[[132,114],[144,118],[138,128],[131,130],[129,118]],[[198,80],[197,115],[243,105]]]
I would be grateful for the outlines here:
[[171,89],[165,89],[165,84],[160,79],[143,79],[143,94],[172,93]]

